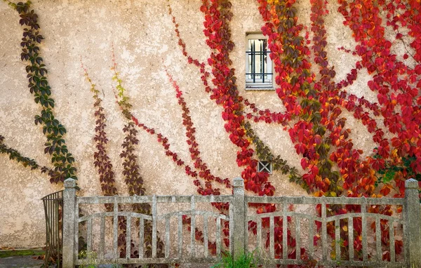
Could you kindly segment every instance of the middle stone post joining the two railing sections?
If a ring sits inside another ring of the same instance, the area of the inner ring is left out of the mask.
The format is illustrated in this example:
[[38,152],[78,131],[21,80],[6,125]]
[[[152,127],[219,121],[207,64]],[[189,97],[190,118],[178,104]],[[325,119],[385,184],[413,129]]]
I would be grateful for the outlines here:
[[244,200],[244,181],[241,177],[234,178],[234,241],[233,243],[233,257],[237,259],[241,254],[246,252],[246,203]]

